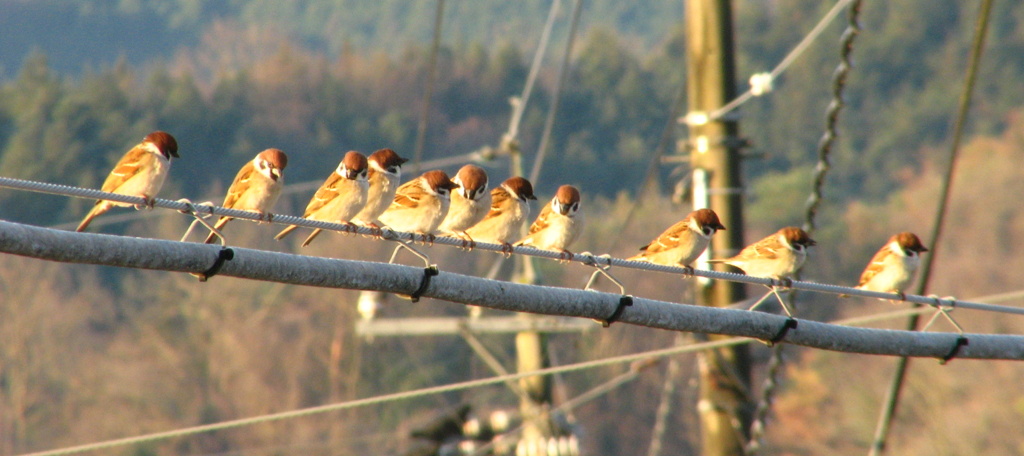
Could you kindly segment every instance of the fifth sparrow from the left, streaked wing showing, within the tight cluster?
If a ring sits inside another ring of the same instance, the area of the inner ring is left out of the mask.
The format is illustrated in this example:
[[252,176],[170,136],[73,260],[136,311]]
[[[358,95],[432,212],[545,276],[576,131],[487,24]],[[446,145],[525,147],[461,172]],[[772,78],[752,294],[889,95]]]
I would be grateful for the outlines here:
[[451,192],[458,188],[444,171],[427,171],[398,188],[380,220],[392,230],[433,239],[452,205]]

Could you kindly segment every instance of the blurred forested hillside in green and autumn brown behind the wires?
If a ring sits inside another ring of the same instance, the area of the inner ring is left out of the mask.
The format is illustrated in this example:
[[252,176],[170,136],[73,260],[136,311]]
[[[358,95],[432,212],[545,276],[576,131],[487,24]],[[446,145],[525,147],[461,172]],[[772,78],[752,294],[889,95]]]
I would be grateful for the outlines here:
[[[774,67],[831,6],[816,0],[733,3],[740,87],[752,73]],[[511,113],[509,97],[522,90],[550,5],[447,4],[426,159],[498,143]],[[0,0],[0,175],[98,188],[113,162],[154,129],[171,132],[180,144],[182,158],[161,193],[171,199],[219,202],[238,168],[269,147],[290,155],[286,174],[292,183],[322,181],[351,149],[386,147],[411,157],[434,5]],[[551,153],[535,182],[542,204],[559,184],[582,188],[589,225],[579,250],[628,255],[690,210],[670,198],[681,177],[672,167],[659,169],[657,192],[637,199],[685,79],[682,10],[678,0],[585,4]],[[852,284],[891,234],[928,235],[976,10],[977,2],[864,2],[818,246],[805,278]],[[523,118],[527,163],[566,38],[567,11],[561,16]],[[829,27],[774,92],[741,109],[740,130],[757,153],[744,164],[749,241],[802,221],[842,23]],[[1022,80],[1024,3],[996,2],[934,293],[976,298],[1021,288]],[[677,130],[678,137],[685,135]],[[507,177],[504,161],[487,169],[492,182]],[[301,213],[310,194],[284,198],[275,212]],[[89,205],[0,190],[0,218],[6,220],[77,222]],[[640,205],[639,221],[621,233],[617,219],[633,205]],[[159,215],[97,230],[177,239],[189,221],[173,212]],[[238,245],[297,251],[297,242],[274,243],[267,226],[236,222],[229,232]],[[384,261],[387,247],[337,235],[302,253]],[[444,247],[430,254],[445,271],[470,274],[482,274],[496,257]],[[541,266],[554,285],[580,287],[589,274],[549,261]],[[687,291],[670,276],[621,275],[631,290],[649,297],[679,300]],[[184,275],[2,256],[0,455],[490,375],[455,337],[362,340],[353,329],[356,295],[224,278],[200,284]],[[802,314],[821,320],[892,308],[859,299],[804,298],[811,303]],[[465,313],[446,302],[395,299],[382,310],[383,317]],[[1024,330],[1016,318],[969,310],[957,316],[971,332]],[[514,357],[510,337],[484,340],[507,360]],[[551,350],[558,362],[570,363],[673,340],[673,333],[615,325],[552,336]],[[759,360],[767,357],[767,348],[754,353]],[[893,360],[787,353],[765,454],[864,452]],[[682,360],[689,378],[696,366],[691,357]],[[624,369],[568,374],[558,395],[571,398]],[[646,452],[663,374],[662,367],[648,370],[575,412],[586,454]],[[1022,374],[1014,363],[914,362],[890,451],[1024,453],[1024,392],[1014,386]],[[695,383],[684,379],[682,385],[666,449],[692,454]],[[113,454],[398,454],[413,445],[409,430],[438,409],[469,403],[483,413],[516,402],[507,389],[483,388]]]

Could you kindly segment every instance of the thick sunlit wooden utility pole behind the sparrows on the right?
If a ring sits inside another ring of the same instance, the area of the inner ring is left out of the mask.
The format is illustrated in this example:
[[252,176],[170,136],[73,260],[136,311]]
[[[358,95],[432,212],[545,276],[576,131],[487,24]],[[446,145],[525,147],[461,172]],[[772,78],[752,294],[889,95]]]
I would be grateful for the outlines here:
[[[687,147],[694,173],[694,195],[703,200],[695,203],[707,204],[717,212],[727,229],[715,235],[712,243],[711,251],[721,257],[734,254],[743,246],[741,141],[734,118],[726,116],[702,121],[701,117],[736,96],[732,8],[729,0],[687,0],[685,3]],[[696,297],[697,303],[702,305],[722,307],[744,298],[741,284],[713,281],[700,285]],[[741,456],[754,410],[746,345],[706,351],[699,359],[699,368],[697,410],[701,424],[701,454]]]

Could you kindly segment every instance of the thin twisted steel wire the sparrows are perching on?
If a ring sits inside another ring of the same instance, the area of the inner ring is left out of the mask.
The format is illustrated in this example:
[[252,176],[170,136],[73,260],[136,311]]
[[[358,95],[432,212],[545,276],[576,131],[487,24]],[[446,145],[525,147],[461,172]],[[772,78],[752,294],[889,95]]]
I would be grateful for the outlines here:
[[[146,201],[143,200],[141,197],[113,194],[93,189],[83,189],[79,186],[62,185],[57,183],[15,179],[10,177],[0,177],[0,188],[17,189],[30,192],[46,193],[51,195],[62,195],[68,197],[86,198],[90,200],[111,200],[127,204],[134,204],[138,206],[146,204]],[[155,198],[151,203],[153,203],[154,207],[158,208],[173,209],[181,212],[195,211],[195,213],[199,216],[210,215],[210,214],[227,215],[242,220],[251,220],[260,222],[267,222],[268,221],[267,218],[269,218],[270,223],[278,223],[278,224],[296,224],[304,227],[322,229],[339,233],[354,233],[367,236],[375,236],[378,234],[374,230],[365,226],[352,227],[346,224],[333,223],[319,220],[310,220],[308,218],[296,217],[293,215],[260,214],[257,212],[227,209],[220,206],[191,204],[181,200],[172,201],[161,198]],[[0,223],[3,222],[0,221]],[[7,222],[7,224],[34,227],[34,229],[36,227],[36,226],[20,225],[18,223],[10,223],[10,222]],[[40,230],[49,230],[49,229],[40,229]],[[423,241],[423,237],[421,235],[416,235],[413,233],[394,232],[390,230],[385,231],[383,236],[385,240],[393,242]],[[433,244],[446,245],[458,248],[465,248],[464,242],[465,241],[462,239],[451,238],[446,236],[438,236],[433,240]],[[188,245],[191,243],[184,243],[184,244]],[[508,252],[508,248],[506,246],[502,246],[499,244],[490,244],[485,242],[477,242],[474,249],[484,250],[495,253],[503,253],[503,254]],[[885,299],[891,301],[903,300],[906,302],[938,306],[947,309],[958,307],[958,308],[970,308],[975,310],[1024,315],[1024,307],[957,300],[953,297],[922,296],[916,294],[907,294],[904,296],[900,296],[896,293],[884,293],[879,291],[861,290],[858,288],[844,287],[831,284],[821,284],[821,283],[804,282],[797,280],[778,281],[774,279],[750,277],[735,273],[726,273],[726,272],[711,271],[711,270],[693,270],[683,266],[668,266],[663,264],[653,264],[646,261],[631,261],[628,259],[613,258],[607,255],[597,256],[589,252],[571,253],[566,255],[561,252],[556,252],[552,250],[541,250],[532,247],[516,246],[512,247],[511,254],[555,259],[566,262],[577,262],[592,267],[603,268],[603,267],[615,266],[615,267],[624,267],[630,270],[653,271],[657,273],[667,273],[677,276],[681,275],[681,276],[703,277],[707,279],[726,280],[726,281],[739,282],[751,285],[763,285],[766,287],[781,287],[781,288],[790,288],[793,290],[813,291],[818,293],[848,294],[851,296],[861,296],[861,297]]]

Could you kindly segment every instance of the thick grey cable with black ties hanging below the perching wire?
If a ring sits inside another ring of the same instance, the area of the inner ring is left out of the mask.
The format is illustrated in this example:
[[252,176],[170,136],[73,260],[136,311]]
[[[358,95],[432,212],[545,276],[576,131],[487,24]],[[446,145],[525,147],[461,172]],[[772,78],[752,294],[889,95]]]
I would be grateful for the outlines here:
[[[232,247],[229,255],[225,255],[224,250],[208,244],[71,233],[0,221],[0,252],[49,261],[196,275],[209,275],[206,272],[213,263],[219,265],[217,274],[223,277],[415,294],[499,310],[579,317],[599,322],[614,316],[617,322],[626,325],[784,340],[844,353],[938,359],[1024,359],[1024,336],[1017,335],[849,328],[762,312],[683,305],[595,290],[493,281],[434,267],[243,247]],[[799,323],[800,329],[785,332],[780,339],[782,330],[792,328],[794,323]],[[968,337],[970,344],[965,344],[964,339]]]

